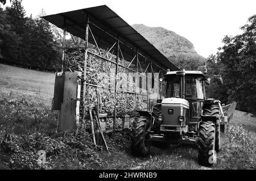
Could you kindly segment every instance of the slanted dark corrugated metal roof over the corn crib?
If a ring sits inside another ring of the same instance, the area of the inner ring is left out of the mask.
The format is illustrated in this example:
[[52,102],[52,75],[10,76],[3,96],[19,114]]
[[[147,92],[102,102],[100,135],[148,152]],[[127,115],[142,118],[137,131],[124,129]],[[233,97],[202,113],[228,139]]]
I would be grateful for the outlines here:
[[[88,15],[89,22],[92,22],[98,28],[101,28],[114,37],[117,37],[118,35],[119,40],[122,41],[122,43],[129,45],[129,47],[134,50],[138,47],[139,50],[142,50],[147,56],[150,56],[153,60],[157,61],[167,69],[180,70],[176,65],[169,61],[167,57],[160,53],[154,45],[149,43],[140,33],[134,30],[133,27],[126,23],[125,20],[106,5],[47,15],[42,18],[55,24],[55,26],[61,29],[64,28],[64,19],[66,19],[66,31],[81,39],[85,39],[85,27]],[[106,36],[106,33],[100,31],[97,27],[92,26],[92,31],[101,39],[108,41],[109,37]]]

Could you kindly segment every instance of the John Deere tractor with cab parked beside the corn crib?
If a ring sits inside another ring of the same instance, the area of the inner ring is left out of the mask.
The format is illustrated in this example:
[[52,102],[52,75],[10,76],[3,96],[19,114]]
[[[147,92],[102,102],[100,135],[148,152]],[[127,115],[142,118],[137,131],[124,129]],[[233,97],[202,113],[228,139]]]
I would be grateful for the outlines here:
[[220,127],[227,117],[219,100],[207,99],[205,85],[220,75],[202,71],[170,71],[164,75],[166,97],[157,100],[152,112],[137,111],[139,118],[131,127],[131,151],[145,157],[151,144],[168,148],[170,144],[196,144],[199,163],[212,166],[220,150]]

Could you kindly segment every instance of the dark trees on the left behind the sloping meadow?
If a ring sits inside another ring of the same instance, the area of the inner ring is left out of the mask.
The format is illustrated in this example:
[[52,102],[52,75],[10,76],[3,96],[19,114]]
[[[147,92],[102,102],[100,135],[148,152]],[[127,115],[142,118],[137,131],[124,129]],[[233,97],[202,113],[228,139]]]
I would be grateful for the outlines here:
[[39,16],[26,17],[21,1],[12,1],[6,10],[0,7],[0,62],[31,69],[57,70],[61,67],[58,47],[50,24]]

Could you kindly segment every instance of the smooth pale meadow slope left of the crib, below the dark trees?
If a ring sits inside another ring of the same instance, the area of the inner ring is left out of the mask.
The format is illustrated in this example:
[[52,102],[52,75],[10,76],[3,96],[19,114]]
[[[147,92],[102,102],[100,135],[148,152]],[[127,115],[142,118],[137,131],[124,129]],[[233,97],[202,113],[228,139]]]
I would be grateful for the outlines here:
[[51,105],[55,73],[0,64],[0,92],[26,94]]

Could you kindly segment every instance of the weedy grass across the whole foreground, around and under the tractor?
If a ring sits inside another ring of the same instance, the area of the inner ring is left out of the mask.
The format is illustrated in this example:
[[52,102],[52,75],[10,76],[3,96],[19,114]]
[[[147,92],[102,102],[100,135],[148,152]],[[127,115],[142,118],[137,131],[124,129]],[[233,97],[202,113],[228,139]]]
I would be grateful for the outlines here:
[[[185,145],[151,147],[149,157],[133,157],[126,133],[106,136],[108,154],[94,147],[88,132],[57,134],[57,117],[36,96],[0,94],[0,169],[208,169],[198,165],[197,149]],[[229,125],[210,169],[256,169],[253,138],[242,126]],[[38,164],[39,150],[46,151],[44,165]]]

